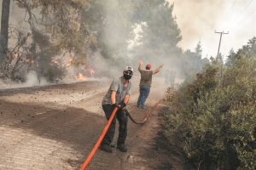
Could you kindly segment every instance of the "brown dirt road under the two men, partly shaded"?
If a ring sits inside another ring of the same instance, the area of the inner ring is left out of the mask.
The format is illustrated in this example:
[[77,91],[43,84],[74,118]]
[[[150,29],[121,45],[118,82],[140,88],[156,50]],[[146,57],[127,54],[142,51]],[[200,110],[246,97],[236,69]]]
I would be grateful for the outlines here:
[[[0,90],[0,169],[79,169],[107,122],[101,101],[108,86],[109,82],[81,82]],[[146,111],[137,109],[134,87],[128,109],[140,120]],[[161,98],[160,91],[152,88],[148,108]],[[157,111],[144,126],[129,122],[128,130],[128,152],[98,150],[88,169],[160,169]],[[181,168],[180,163],[173,166]]]

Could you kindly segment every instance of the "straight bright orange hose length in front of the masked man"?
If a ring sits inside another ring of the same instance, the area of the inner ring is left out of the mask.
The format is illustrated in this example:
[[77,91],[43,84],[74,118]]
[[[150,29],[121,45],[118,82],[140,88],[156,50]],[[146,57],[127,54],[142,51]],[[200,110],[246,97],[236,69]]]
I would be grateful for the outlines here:
[[96,153],[96,150],[98,149],[98,147],[100,146],[100,144],[102,143],[102,139],[105,137],[106,133],[108,132],[108,128],[111,124],[111,122],[113,121],[113,117],[115,116],[116,112],[118,111],[118,107],[114,108],[110,118],[108,119],[108,124],[106,125],[106,127],[103,129],[102,134],[100,136],[100,138],[97,140],[96,144],[94,145],[93,149],[90,151],[90,155],[86,158],[86,160],[84,161],[82,167],[80,167],[80,170],[84,170],[86,169],[86,167],[89,165],[91,159],[93,158],[93,156]]

